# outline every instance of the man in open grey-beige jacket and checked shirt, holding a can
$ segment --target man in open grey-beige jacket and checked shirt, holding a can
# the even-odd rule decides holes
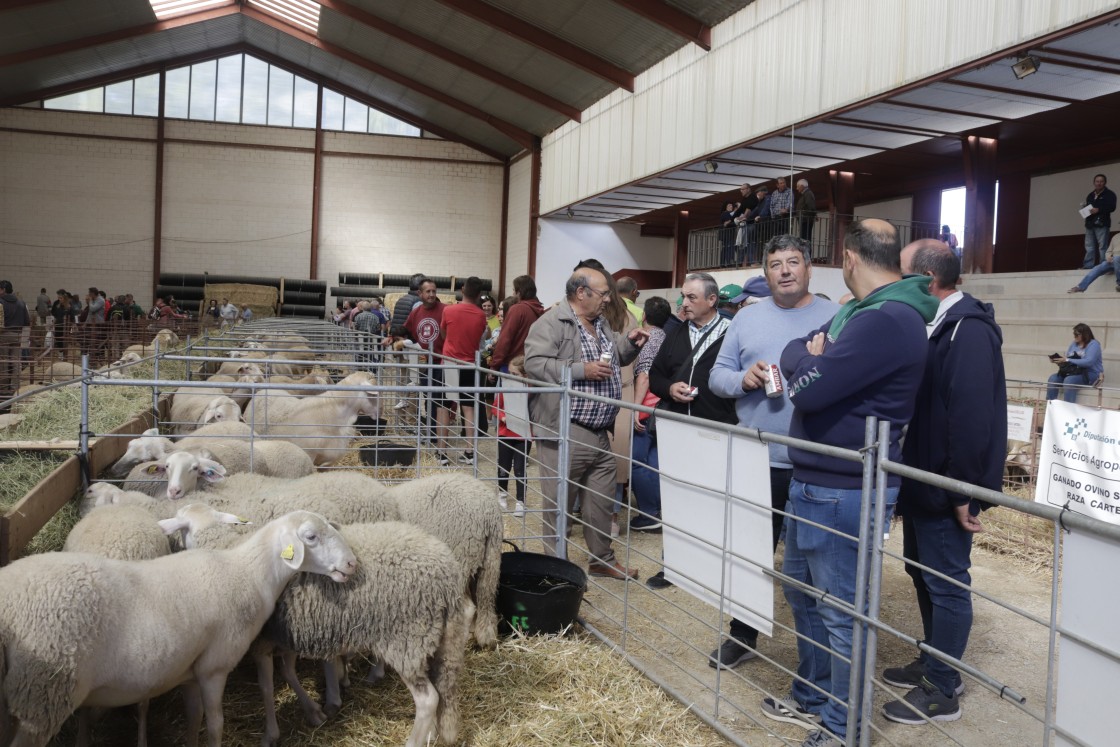
[[[573,392],[622,396],[620,368],[637,357],[650,335],[638,328],[628,336],[614,332],[603,317],[610,296],[606,273],[580,268],[564,286],[564,300],[545,311],[525,338],[525,373],[530,379],[559,384],[571,370]],[[544,544],[556,553],[556,510],[559,477],[560,394],[532,394],[529,410],[533,438],[540,442]],[[610,547],[610,513],[615,494],[615,456],[608,433],[618,407],[571,398],[569,415],[568,511],[579,493],[584,507],[584,541],[588,572],[604,578],[636,578],[637,571],[615,560]]]

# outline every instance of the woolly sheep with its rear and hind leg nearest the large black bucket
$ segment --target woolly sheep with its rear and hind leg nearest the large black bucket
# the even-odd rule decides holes
[[[469,475],[422,477],[388,491],[401,521],[410,522],[447,542],[466,571],[467,591],[478,618],[472,632],[484,647],[497,644],[497,582],[502,573],[502,511],[494,488]]]

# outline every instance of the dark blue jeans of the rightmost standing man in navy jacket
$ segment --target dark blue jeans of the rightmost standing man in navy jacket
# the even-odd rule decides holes
[[[972,534],[961,529],[955,516],[903,516],[903,557],[916,560],[965,586],[972,583]],[[906,566],[917,591],[925,643],[953,659],[964,656],[972,631],[972,594],[928,571]],[[925,678],[951,697],[961,683],[960,672],[922,654]]]

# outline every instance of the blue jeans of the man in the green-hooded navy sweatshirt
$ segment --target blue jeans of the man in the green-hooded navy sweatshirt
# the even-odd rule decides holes
[[[888,521],[897,499],[898,488],[889,488]],[[790,483],[787,511],[791,517],[785,527],[782,571],[795,580],[827,590],[830,596],[855,604],[860,491],[806,485],[794,479]],[[802,519],[848,536],[796,521]],[[791,689],[793,698],[802,708],[819,713],[821,723],[842,739],[848,734],[851,665],[846,660],[851,659],[852,618],[793,588],[785,587],[784,591],[799,634],[797,679]],[[831,697],[821,694],[802,679]]]

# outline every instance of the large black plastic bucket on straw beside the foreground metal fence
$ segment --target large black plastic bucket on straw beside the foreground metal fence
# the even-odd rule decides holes
[[[502,553],[497,586],[502,633],[559,633],[575,623],[587,591],[586,571],[562,558],[514,549]]]

